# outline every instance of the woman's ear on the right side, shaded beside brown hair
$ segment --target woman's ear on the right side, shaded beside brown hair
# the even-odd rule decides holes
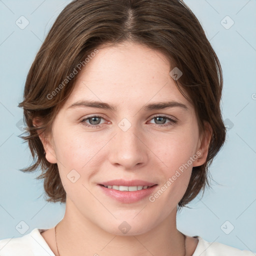
[[[200,135],[196,150],[196,152],[200,152],[200,154],[198,153],[198,158],[193,161],[193,166],[200,166],[205,163],[211,136],[212,128],[208,122],[204,121],[204,132]]]

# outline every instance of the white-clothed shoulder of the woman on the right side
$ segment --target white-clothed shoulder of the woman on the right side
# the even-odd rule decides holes
[[[195,248],[192,256],[255,256],[256,254],[249,250],[240,250],[232,246],[225,245],[219,242],[208,242],[200,236],[194,236],[198,238],[198,244]]]

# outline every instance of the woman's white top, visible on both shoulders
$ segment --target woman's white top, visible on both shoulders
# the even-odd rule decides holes
[[[55,256],[40,232],[47,229],[34,228],[30,233],[16,238],[0,240],[0,256]],[[248,250],[240,250],[219,242],[208,242],[200,236],[192,256],[255,256]]]

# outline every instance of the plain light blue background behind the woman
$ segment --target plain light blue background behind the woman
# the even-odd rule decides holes
[[[19,168],[31,163],[30,151],[17,137],[22,118],[26,74],[56,16],[66,0],[0,1],[0,239],[21,236],[15,226],[25,221],[33,228],[54,226],[64,214],[64,204],[47,203],[39,173]],[[212,189],[197,196],[177,215],[177,228],[240,249],[256,251],[256,1],[185,0],[200,20],[216,51],[224,78],[222,114],[230,126],[226,143],[210,167]],[[21,16],[29,24],[20,29]],[[226,16],[234,24],[225,29]],[[225,22],[225,19],[224,19]],[[226,25],[230,24],[226,21]],[[253,99],[254,95],[254,99]],[[228,119],[228,120],[227,120]],[[219,183],[219,184],[218,184]],[[221,225],[234,229],[225,234]]]

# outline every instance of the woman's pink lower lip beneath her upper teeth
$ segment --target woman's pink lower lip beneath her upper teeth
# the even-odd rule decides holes
[[[98,186],[101,187],[101,189],[106,195],[122,203],[133,203],[149,196],[157,185],[153,185],[149,188],[136,190],[136,191],[120,191],[112,188],[106,188],[102,185],[98,185]]]

